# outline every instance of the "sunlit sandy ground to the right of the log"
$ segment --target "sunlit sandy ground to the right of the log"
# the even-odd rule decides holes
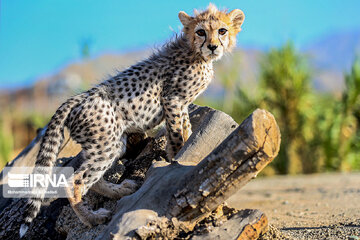
[[[360,239],[360,173],[258,178],[227,203],[262,210],[290,239]]]

